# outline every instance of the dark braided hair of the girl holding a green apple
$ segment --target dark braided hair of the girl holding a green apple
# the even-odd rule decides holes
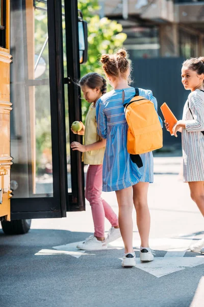
[[[82,77],[82,79],[79,81],[79,85],[83,86],[86,85],[90,89],[94,90],[96,87],[98,87],[101,91],[101,94],[104,95],[107,90],[107,84],[106,84],[106,79],[97,74],[97,73],[89,73]]]

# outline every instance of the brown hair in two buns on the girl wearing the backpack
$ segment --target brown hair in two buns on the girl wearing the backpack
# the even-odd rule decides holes
[[[126,77],[127,70],[131,70],[127,53],[125,49],[118,50],[115,54],[101,55],[100,62],[103,64],[103,69],[108,76],[111,77]],[[129,82],[131,79],[129,78]]]

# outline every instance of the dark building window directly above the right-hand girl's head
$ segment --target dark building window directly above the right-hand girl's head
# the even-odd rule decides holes
[[[180,36],[180,55],[185,58],[198,56],[198,48],[199,48],[198,35],[194,35],[180,29],[179,36]]]

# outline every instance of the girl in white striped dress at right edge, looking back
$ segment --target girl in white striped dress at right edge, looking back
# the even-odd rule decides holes
[[[191,93],[184,105],[183,119],[173,127],[174,136],[182,133],[184,182],[188,182],[191,198],[204,216],[204,57],[183,63],[182,83]],[[165,124],[168,130],[168,123]],[[204,252],[204,239],[190,247]]]

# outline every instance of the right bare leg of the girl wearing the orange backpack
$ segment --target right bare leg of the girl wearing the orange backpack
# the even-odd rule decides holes
[[[149,247],[150,214],[147,204],[148,187],[148,182],[139,182],[133,186],[133,201],[137,213],[137,227],[142,247]]]

